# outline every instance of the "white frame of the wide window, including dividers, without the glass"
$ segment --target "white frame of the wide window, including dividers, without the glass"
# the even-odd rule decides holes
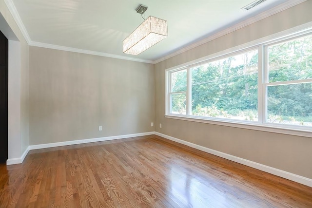
[[[286,82],[268,82],[268,69],[267,63],[268,60],[267,48],[270,45],[277,44],[279,42],[284,42],[292,38],[299,38],[300,36],[305,36],[312,34],[311,23],[304,24],[287,31],[283,31],[277,34],[273,34],[269,37],[261,38],[234,48],[230,48],[207,57],[196,59],[194,61],[172,67],[165,70],[165,117],[172,119],[180,119],[187,121],[194,121],[200,123],[209,123],[222,126],[237,127],[243,129],[252,129],[265,132],[277,132],[298,136],[312,137],[312,127],[309,126],[296,126],[296,125],[287,125],[287,124],[274,124],[268,123],[267,120],[267,86],[280,85],[280,84],[293,84],[293,83],[305,83],[311,82],[312,79],[308,80],[295,80],[295,81],[286,81]],[[246,120],[235,120],[228,118],[218,118],[218,117],[203,117],[191,115],[191,95],[192,95],[192,85],[191,85],[191,70],[190,68],[211,62],[214,60],[221,59],[222,57],[235,56],[237,54],[242,54],[252,50],[258,50],[258,121],[246,121]],[[173,114],[170,113],[171,109],[171,73],[187,70],[187,91],[186,91],[186,115]]]

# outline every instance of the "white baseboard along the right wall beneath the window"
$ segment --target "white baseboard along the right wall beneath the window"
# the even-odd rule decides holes
[[[236,157],[234,155],[227,154],[227,153],[224,153],[224,152],[221,152],[221,151],[212,150],[212,149],[200,146],[200,145],[196,145],[196,144],[191,143],[191,142],[187,142],[187,141],[184,141],[184,140],[181,140],[181,139],[177,139],[177,138],[172,137],[172,136],[168,136],[168,135],[163,134],[163,133],[155,132],[155,134],[158,135],[158,136],[164,137],[166,139],[175,141],[177,143],[184,144],[186,146],[195,148],[197,150],[205,151],[205,152],[208,152],[210,154],[214,154],[216,156],[223,157],[225,159],[232,160],[234,162],[237,162],[237,163],[240,163],[240,164],[243,164],[243,165],[246,165],[246,166],[258,169],[258,170],[262,170],[262,171],[271,173],[273,175],[277,175],[277,176],[280,176],[282,178],[286,178],[286,179],[289,179],[291,181],[294,181],[294,182],[297,182],[297,183],[300,183],[300,184],[312,187],[312,179],[310,179],[310,178],[306,178],[306,177],[303,177],[303,176],[300,176],[300,175],[296,175],[296,174],[293,174],[291,172],[287,172],[287,171],[284,171],[284,170],[279,170],[279,169],[276,169],[276,168],[272,168],[270,166],[262,165],[260,163],[256,163],[256,162],[253,162],[253,161],[250,161],[250,160],[246,160],[246,159],[243,159],[243,158],[240,158],[240,157]]]

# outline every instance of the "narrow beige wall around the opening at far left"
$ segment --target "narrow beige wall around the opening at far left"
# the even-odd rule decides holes
[[[0,14],[0,28],[10,40],[8,157],[15,159],[29,145],[29,46],[3,0]]]

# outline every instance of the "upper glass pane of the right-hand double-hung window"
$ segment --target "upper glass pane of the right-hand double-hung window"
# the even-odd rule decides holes
[[[268,47],[269,82],[312,78],[312,35]]]

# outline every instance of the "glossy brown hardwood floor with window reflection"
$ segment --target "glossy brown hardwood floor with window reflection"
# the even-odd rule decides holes
[[[312,188],[150,135],[0,165],[6,207],[312,208]]]

